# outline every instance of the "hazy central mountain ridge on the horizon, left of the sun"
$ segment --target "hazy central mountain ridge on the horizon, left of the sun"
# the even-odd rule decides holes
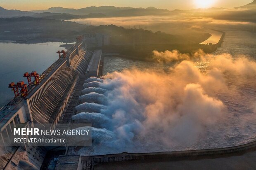
[[[143,15],[164,15],[164,14],[171,13],[167,9],[157,9],[155,7],[133,8],[133,7],[114,7],[114,6],[86,7],[81,9],[51,7],[47,10],[35,10],[32,12],[68,13],[73,15],[88,15],[88,14],[101,13],[106,16],[143,16]]]

